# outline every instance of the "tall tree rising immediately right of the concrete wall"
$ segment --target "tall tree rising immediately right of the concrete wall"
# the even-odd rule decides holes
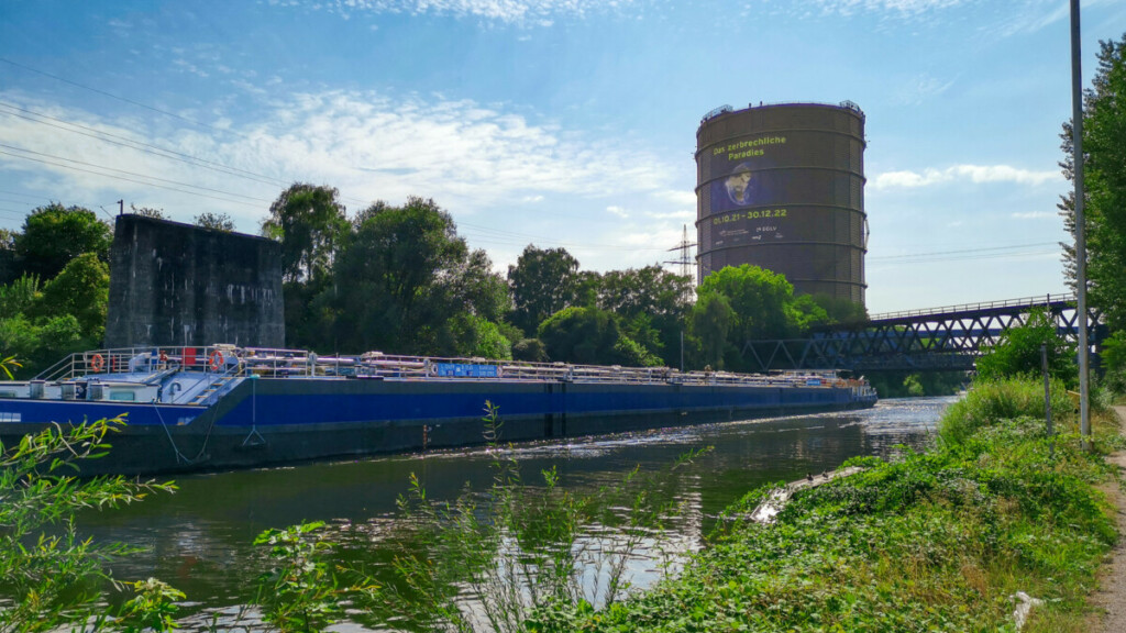
[[[286,282],[312,282],[330,273],[337,243],[348,230],[346,209],[337,196],[333,187],[295,182],[270,205],[262,234],[282,242]]]

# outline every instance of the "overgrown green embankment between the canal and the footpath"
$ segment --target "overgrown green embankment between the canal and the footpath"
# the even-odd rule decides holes
[[[867,470],[797,493],[774,525],[747,520],[769,493],[753,491],[679,577],[602,612],[540,612],[528,627],[1013,631],[1011,596],[1025,591],[1045,600],[1026,631],[1083,631],[1117,538],[1094,484],[1114,474],[1080,451],[1062,400],[1049,455],[1043,418],[1029,417],[1034,384],[975,387],[932,449],[854,460]],[[1120,443],[1117,427],[1097,430],[1096,446]]]

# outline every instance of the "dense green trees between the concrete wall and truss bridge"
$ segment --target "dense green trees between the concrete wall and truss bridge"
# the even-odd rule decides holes
[[[334,188],[295,184],[262,233],[282,244],[287,344],[321,353],[743,369],[748,337],[864,318],[751,266],[709,276],[696,301],[658,265],[600,274],[562,248],[529,244],[502,275],[421,197],[349,217]]]

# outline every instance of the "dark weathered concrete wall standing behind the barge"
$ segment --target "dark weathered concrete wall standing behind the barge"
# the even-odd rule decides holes
[[[106,347],[285,347],[280,244],[118,215]]]

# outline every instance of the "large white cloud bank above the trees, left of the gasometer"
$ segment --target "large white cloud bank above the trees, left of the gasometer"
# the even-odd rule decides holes
[[[163,132],[137,121],[108,122],[80,110],[33,104],[15,93],[0,93],[0,100],[258,175],[239,178],[227,169],[185,164],[60,127],[5,117],[0,143],[87,164],[0,154],[0,170],[18,170],[25,182],[38,178],[45,195],[75,204],[116,191],[114,196],[126,200],[136,196],[138,205],[170,212],[193,209],[195,214],[206,207],[257,221],[286,185],[300,180],[339,188],[354,211],[375,199],[399,203],[410,195],[434,197],[458,214],[560,195],[604,198],[598,206],[605,208],[616,204],[614,196],[635,199],[669,191],[677,172],[644,150],[626,152],[600,137],[588,139],[495,106],[437,97],[298,93],[274,102],[250,126],[221,115],[209,118],[229,127],[226,133],[215,127]]]

